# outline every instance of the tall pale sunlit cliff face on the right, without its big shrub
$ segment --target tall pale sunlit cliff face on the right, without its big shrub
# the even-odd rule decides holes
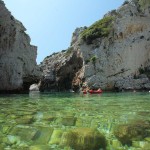
[[[79,73],[89,87],[112,89],[149,89],[150,75],[150,3],[130,1],[106,14],[112,17],[111,30],[99,37],[76,38],[73,46],[79,50],[84,65]],[[107,25],[108,26],[108,25]],[[106,31],[107,26],[101,28]],[[93,27],[94,28],[94,27]],[[104,29],[105,28],[105,29]],[[89,37],[91,28],[86,38]],[[85,29],[87,31],[87,29]],[[74,34],[75,35],[75,34]],[[105,35],[105,36],[104,36]],[[82,74],[82,75],[81,75]],[[139,74],[146,74],[140,77]]]

